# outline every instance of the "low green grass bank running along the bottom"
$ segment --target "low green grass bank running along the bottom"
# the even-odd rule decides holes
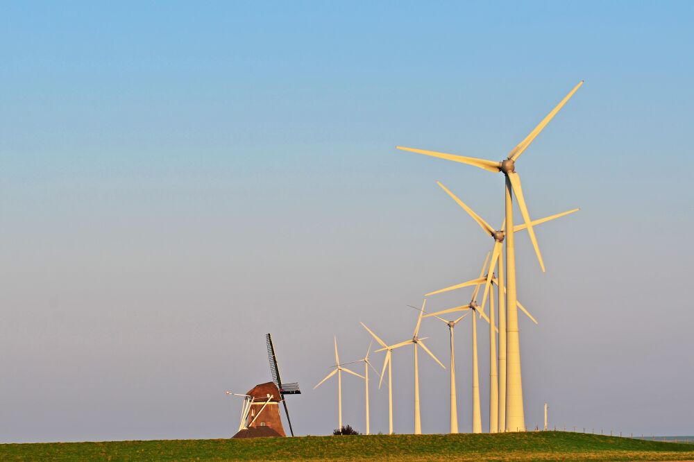
[[[2,461],[682,461],[694,445],[564,431],[0,445]]]

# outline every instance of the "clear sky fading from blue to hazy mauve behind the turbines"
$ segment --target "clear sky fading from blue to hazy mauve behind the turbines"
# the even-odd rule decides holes
[[[0,15],[0,442],[228,438],[276,344],[296,434],[337,427],[366,323],[412,336],[475,277],[502,176],[397,151],[518,160],[527,427],[691,435],[690,2],[5,3]],[[430,311],[466,303],[462,289]],[[489,425],[489,329],[480,330]],[[422,336],[448,363],[448,332]],[[382,353],[372,355],[376,368]],[[471,431],[471,319],[456,331]],[[393,353],[396,433],[412,350]],[[354,366],[358,372],[360,367]],[[448,370],[420,357],[422,426]],[[371,378],[371,431],[387,388]],[[364,384],[344,422],[364,431]]]

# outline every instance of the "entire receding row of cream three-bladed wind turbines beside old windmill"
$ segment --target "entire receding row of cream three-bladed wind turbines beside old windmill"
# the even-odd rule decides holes
[[[521,309],[523,313],[528,316],[535,324],[537,321],[530,314],[530,312],[521,305],[518,301],[517,288],[516,288],[516,253],[514,246],[514,234],[516,232],[527,231],[530,241],[535,250],[538,262],[542,271],[545,271],[545,265],[540,253],[540,249],[535,237],[534,227],[546,223],[548,221],[557,219],[561,216],[566,216],[577,212],[578,209],[570,209],[566,212],[561,212],[559,214],[547,216],[543,219],[532,220],[530,218],[530,213],[527,210],[527,205],[525,204],[525,198],[523,196],[523,189],[521,187],[521,178],[516,173],[516,161],[518,157],[521,157],[523,152],[528,146],[533,142],[533,140],[539,135],[539,133],[547,126],[547,124],[552,120],[553,117],[561,110],[566,102],[573,96],[573,94],[581,87],[583,80],[579,82],[565,97],[562,99],[557,106],[527,135],[523,141],[518,144],[515,148],[511,150],[507,157],[500,161],[484,160],[475,157],[464,157],[461,155],[453,155],[448,153],[439,153],[436,151],[426,151],[423,149],[416,148],[406,148],[403,146],[397,146],[398,149],[403,151],[411,151],[414,153],[419,153],[423,155],[428,155],[432,157],[439,157],[444,160],[450,160],[452,162],[459,162],[462,164],[468,164],[472,166],[477,166],[480,169],[490,171],[492,173],[503,173],[505,176],[505,187],[504,187],[504,207],[505,207],[505,219],[500,226],[500,228],[495,229],[489,223],[484,221],[480,215],[475,213],[471,207],[466,205],[458,196],[453,194],[448,188],[437,182],[439,187],[446,191],[446,194],[450,196],[455,202],[462,207],[468,215],[470,215],[475,222],[480,225],[482,231],[489,235],[493,239],[493,248],[491,250],[491,259],[489,259],[490,253],[487,253],[484,264],[482,265],[482,271],[478,277],[466,282],[459,284],[454,284],[452,286],[447,286],[444,289],[439,289],[437,291],[432,291],[426,293],[425,297],[434,296],[439,293],[444,293],[448,291],[453,291],[456,289],[462,289],[468,286],[474,286],[473,294],[471,300],[466,305],[460,305],[457,307],[452,307],[449,309],[444,309],[434,313],[428,313],[425,311],[426,299],[423,302],[421,309],[418,309],[419,314],[417,318],[416,327],[414,329],[414,334],[412,339],[403,341],[400,343],[395,343],[393,345],[387,345],[379,336],[377,336],[373,330],[366,327],[364,323],[361,323],[364,329],[366,329],[373,339],[378,342],[382,347],[380,350],[375,350],[376,352],[386,352],[383,362],[382,371],[380,374],[379,388],[383,382],[386,368],[388,369],[388,400],[389,400],[389,433],[393,434],[393,382],[392,382],[392,352],[397,348],[402,348],[406,345],[414,345],[414,433],[421,434],[421,417],[420,417],[420,402],[419,402],[419,375],[418,375],[418,348],[422,348],[434,361],[439,363],[442,368],[443,363],[427,348],[423,343],[425,338],[419,338],[419,329],[421,327],[421,322],[423,318],[435,318],[448,325],[448,331],[450,335],[450,433],[458,432],[457,423],[457,400],[456,400],[456,385],[455,385],[455,348],[454,348],[454,329],[456,325],[464,319],[471,312],[472,320],[472,357],[473,357],[473,409],[472,409],[472,420],[473,420],[473,433],[482,432],[482,418],[481,418],[481,405],[480,405],[480,379],[479,370],[477,363],[477,317],[484,318],[487,323],[489,323],[489,432],[496,433],[498,431],[525,431],[525,416],[523,409],[523,385],[521,380],[521,350],[520,350],[520,338],[518,334],[518,309]],[[514,197],[518,202],[518,207],[521,209],[521,216],[523,216],[523,223],[520,225],[514,225]],[[505,252],[503,251],[503,243],[506,243]],[[505,256],[505,258],[504,258]],[[482,295],[481,305],[477,303],[477,297],[479,296],[481,287],[484,286],[484,293]],[[494,287],[498,291],[498,327],[496,326],[496,307],[494,306]],[[484,311],[486,305],[486,300],[489,298],[489,316]],[[466,311],[465,314],[455,318],[453,320],[446,320],[441,316],[451,313],[460,313]],[[477,314],[478,316],[475,316]],[[496,334],[499,334],[498,339],[498,355],[497,355],[497,341]],[[344,367],[349,363],[340,363],[339,356],[337,353],[337,339],[335,339],[335,370],[332,370],[327,377],[325,377],[319,384],[316,385],[317,388],[323,382],[328,380],[333,375],[338,376],[338,415],[339,415],[339,428],[342,427],[342,404],[341,404],[341,373],[344,371],[351,375],[361,377],[364,379],[366,384],[366,434],[369,434],[369,367],[373,368],[371,362],[369,361],[369,354],[371,352],[371,345],[369,345],[369,350],[367,351],[366,357],[353,362],[363,362],[364,363],[364,375],[355,373],[353,370],[349,370]],[[498,373],[497,373],[498,368]],[[375,370],[375,369],[374,369]],[[378,371],[376,371],[378,373]]]

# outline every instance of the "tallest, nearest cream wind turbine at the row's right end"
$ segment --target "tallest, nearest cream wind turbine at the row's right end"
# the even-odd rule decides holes
[[[513,195],[516,195],[518,207],[521,209],[523,220],[527,224],[527,232],[535,249],[537,259],[540,263],[542,271],[545,271],[545,264],[542,261],[540,248],[537,245],[535,232],[532,229],[532,220],[525,205],[525,197],[521,187],[521,178],[516,173],[516,161],[518,157],[527,149],[539,133],[547,126],[548,123],[555,117],[557,112],[564,107],[566,102],[573,94],[583,85],[581,80],[578,85],[573,87],[571,91],[564,96],[557,106],[530,132],[522,142],[511,150],[509,155],[500,162],[493,160],[478,159],[476,157],[465,157],[462,155],[453,155],[447,153],[439,153],[436,151],[425,151],[423,149],[405,148],[396,146],[403,151],[412,151],[414,153],[439,157],[441,159],[452,160],[462,164],[473,165],[491,171],[493,173],[503,173],[505,176],[504,202],[506,213],[506,225],[509,229],[514,229],[514,211],[513,211]],[[509,431],[524,431],[525,416],[523,413],[523,384],[521,382],[521,348],[520,339],[518,337],[518,311],[516,310],[516,251],[514,247],[514,233],[509,232],[506,237],[506,271],[507,271],[507,402],[506,402],[506,429]]]

